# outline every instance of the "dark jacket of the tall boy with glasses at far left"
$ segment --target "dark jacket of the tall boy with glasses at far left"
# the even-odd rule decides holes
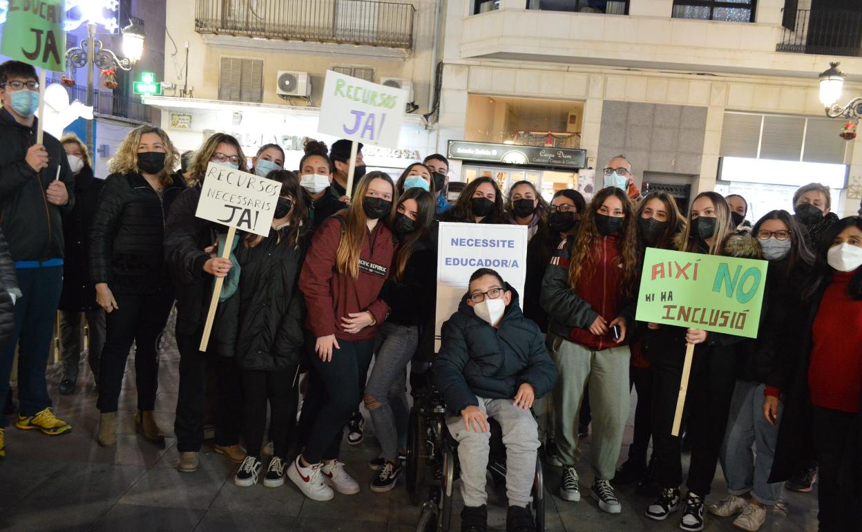
[[[75,206],[75,178],[66,150],[57,139],[44,134],[47,168],[35,172],[25,160],[28,148],[36,143],[37,120],[28,128],[16,122],[9,111],[0,110],[0,228],[16,262],[62,259],[60,213]],[[46,196],[48,185],[57,178],[58,165],[59,180],[69,193],[69,203],[62,207],[48,203]]]

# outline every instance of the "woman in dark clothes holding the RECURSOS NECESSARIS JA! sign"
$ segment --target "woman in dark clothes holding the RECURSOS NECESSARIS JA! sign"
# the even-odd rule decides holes
[[[213,254],[224,226],[195,216],[209,164],[244,172],[245,161],[242,147],[233,136],[211,135],[195,153],[186,175],[190,188],[177,198],[165,227],[165,256],[177,289],[177,469],[185,473],[197,471],[197,453],[203,444],[208,366],[215,368],[215,452],[237,464],[246,458],[246,451],[240,447],[242,385],[234,361],[234,343],[220,338],[222,328],[214,327],[207,351],[200,350],[213,283],[216,278],[226,278],[233,263]],[[218,317],[216,314],[216,320]]]

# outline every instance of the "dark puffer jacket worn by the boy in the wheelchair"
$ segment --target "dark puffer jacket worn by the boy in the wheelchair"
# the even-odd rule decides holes
[[[524,317],[518,294],[497,329],[476,316],[464,295],[458,311],[443,323],[440,353],[434,360],[434,385],[449,410],[460,414],[484,399],[513,399],[523,383],[539,398],[553,389],[557,368],[545,348],[539,326]]]

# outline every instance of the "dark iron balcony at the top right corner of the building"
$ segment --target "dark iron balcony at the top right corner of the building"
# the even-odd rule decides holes
[[[784,14],[778,52],[862,57],[862,13],[843,9],[797,9]]]

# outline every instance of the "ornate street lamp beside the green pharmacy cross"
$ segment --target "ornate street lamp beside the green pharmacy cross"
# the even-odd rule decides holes
[[[92,5],[96,5],[93,3]],[[88,13],[85,11],[85,14]],[[92,11],[87,19],[87,40],[81,41],[78,47],[66,50],[66,63],[75,68],[87,67],[87,101],[89,107],[93,106],[93,66],[99,70],[106,68],[120,68],[124,71],[132,70],[132,66],[144,51],[144,22],[140,19],[130,18],[129,25],[122,28],[122,51],[125,58],[117,57],[116,53],[108,48],[102,47],[102,41],[96,38],[97,20],[96,11]],[[93,145],[93,122],[87,121],[86,138],[84,139],[91,153],[95,152]]]

